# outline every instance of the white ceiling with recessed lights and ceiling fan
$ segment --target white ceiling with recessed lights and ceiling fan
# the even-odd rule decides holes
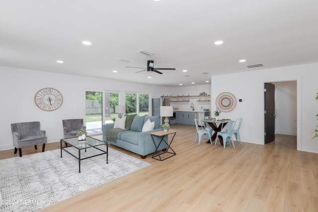
[[[211,75],[318,62],[317,9],[318,0],[0,0],[0,66],[205,84]],[[148,60],[176,70],[125,68]],[[265,67],[246,68],[260,63]]]

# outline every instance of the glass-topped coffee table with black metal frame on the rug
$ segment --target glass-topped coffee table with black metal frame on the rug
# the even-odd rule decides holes
[[[62,146],[62,142],[65,142],[66,146],[63,147]],[[100,145],[104,145],[104,144],[106,144],[106,151],[96,147],[96,146],[100,146]],[[71,146],[73,146],[73,147],[75,147],[76,149],[79,150],[79,155],[78,156],[76,156],[75,154],[73,154],[73,153],[71,153],[70,151],[67,150],[67,148],[69,148]],[[92,155],[92,156],[89,156],[89,157],[81,158],[80,157],[80,151],[85,149],[85,152],[86,152],[86,149],[87,148],[91,148],[91,147],[100,150],[102,153],[95,154],[95,155]],[[73,157],[75,157],[75,158],[77,158],[79,160],[79,173],[80,173],[80,161],[81,160],[84,160],[84,159],[87,159],[87,158],[91,158],[91,157],[95,157],[95,156],[102,155],[102,154],[106,154],[106,163],[108,163],[108,142],[100,141],[100,140],[94,139],[92,137],[88,137],[87,136],[85,141],[79,141],[78,137],[70,138],[70,139],[61,139],[61,157],[62,157],[62,150],[68,152]]]

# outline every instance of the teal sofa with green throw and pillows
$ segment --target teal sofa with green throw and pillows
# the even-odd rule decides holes
[[[150,119],[151,122],[155,122],[154,130],[142,132],[145,122]],[[103,131],[103,141],[107,139],[107,130],[114,127],[114,124],[105,124],[102,127]],[[128,151],[139,154],[142,159],[145,159],[148,154],[154,153],[156,151],[156,145],[161,141],[160,137],[154,136],[154,141],[152,139],[151,133],[156,131],[161,131],[162,126],[160,125],[160,116],[138,116],[136,115],[132,121],[129,130],[121,131],[117,134],[116,141],[107,141],[109,144],[121,147]],[[165,141],[167,136],[164,137]],[[165,150],[167,144],[162,141],[159,145],[158,150]]]

